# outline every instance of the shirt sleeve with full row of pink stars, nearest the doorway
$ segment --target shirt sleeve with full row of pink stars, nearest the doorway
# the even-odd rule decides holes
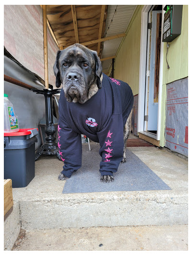
[[[105,128],[97,133],[102,157],[100,173],[113,175],[123,158],[123,120],[122,114],[113,114]]]

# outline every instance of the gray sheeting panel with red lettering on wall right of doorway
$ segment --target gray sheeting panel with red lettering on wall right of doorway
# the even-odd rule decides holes
[[[165,146],[188,157],[188,77],[167,85]]]

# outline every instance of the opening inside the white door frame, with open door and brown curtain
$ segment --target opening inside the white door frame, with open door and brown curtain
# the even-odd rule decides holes
[[[147,61],[145,83],[144,131],[156,134],[158,116],[158,80],[161,46],[161,13],[148,13]]]

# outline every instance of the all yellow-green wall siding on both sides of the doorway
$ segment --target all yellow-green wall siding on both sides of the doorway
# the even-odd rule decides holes
[[[139,64],[141,40],[141,16],[144,5],[138,5],[115,59],[115,78],[127,82],[133,95],[139,93]],[[160,146],[165,142],[166,88],[167,84],[188,76],[188,5],[183,5],[181,35],[169,43],[167,69],[167,43],[163,52],[163,87],[161,105]]]

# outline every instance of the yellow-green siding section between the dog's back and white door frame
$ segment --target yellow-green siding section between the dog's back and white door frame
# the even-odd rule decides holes
[[[115,59],[115,78],[128,83],[133,95],[139,93],[139,63],[141,41],[141,14],[143,5],[138,5],[130,24],[127,35],[118,49]]]

